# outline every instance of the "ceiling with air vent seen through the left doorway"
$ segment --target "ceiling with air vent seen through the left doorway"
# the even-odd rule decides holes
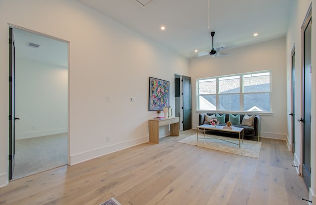
[[[68,43],[40,34],[13,28],[15,57],[41,63],[68,67]],[[38,48],[27,43],[39,44]]]

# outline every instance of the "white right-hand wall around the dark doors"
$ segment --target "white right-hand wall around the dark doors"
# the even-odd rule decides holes
[[[302,116],[302,25],[304,19],[308,13],[310,5],[314,4],[314,9],[312,9],[312,19],[316,17],[316,0],[299,0],[294,1],[293,10],[291,13],[290,26],[286,35],[286,71],[287,76],[291,75],[291,50],[295,45],[295,112],[296,119]],[[315,65],[316,65],[316,28],[312,26],[312,79],[316,79]],[[291,93],[290,93],[290,80],[287,81],[287,110],[290,111],[291,108]],[[316,201],[315,196],[315,186],[316,186],[316,81],[312,80],[312,120],[311,120],[311,188],[310,188],[310,200]],[[287,122],[290,124],[291,118],[288,117]],[[301,173],[302,165],[302,123],[295,123],[295,153],[294,153],[294,164],[299,166],[300,169],[297,170]],[[288,133],[291,133],[291,128],[289,127]],[[291,135],[289,135],[290,137]],[[290,138],[288,139],[291,141]]]

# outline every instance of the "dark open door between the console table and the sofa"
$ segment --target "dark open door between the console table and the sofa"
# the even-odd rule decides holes
[[[191,77],[182,77],[183,86],[183,130],[192,128]]]

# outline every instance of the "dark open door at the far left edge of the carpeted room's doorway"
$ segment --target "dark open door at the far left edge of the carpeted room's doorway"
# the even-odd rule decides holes
[[[12,179],[15,165],[15,43],[13,29],[9,28],[9,180]]]

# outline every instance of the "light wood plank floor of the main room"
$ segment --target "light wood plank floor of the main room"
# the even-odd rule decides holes
[[[262,138],[253,159],[177,142],[195,133],[11,181],[0,205],[307,205],[285,141]]]

